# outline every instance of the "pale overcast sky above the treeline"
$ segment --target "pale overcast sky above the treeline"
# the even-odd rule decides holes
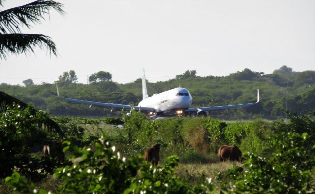
[[[315,70],[315,0],[56,0],[65,16],[23,33],[48,35],[58,57],[36,49],[0,61],[0,83],[53,83],[74,70],[79,83],[108,71],[113,81],[157,82],[186,70],[226,76],[286,65]],[[3,9],[32,0],[6,0]]]

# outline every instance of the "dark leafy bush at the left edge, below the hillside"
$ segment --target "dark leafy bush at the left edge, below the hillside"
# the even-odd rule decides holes
[[[28,161],[35,162],[29,155],[35,143],[40,143],[47,134],[41,129],[40,123],[47,119],[47,114],[34,109],[12,108],[0,113],[0,177],[5,177],[17,169],[34,171]],[[38,161],[37,161],[38,162]]]

